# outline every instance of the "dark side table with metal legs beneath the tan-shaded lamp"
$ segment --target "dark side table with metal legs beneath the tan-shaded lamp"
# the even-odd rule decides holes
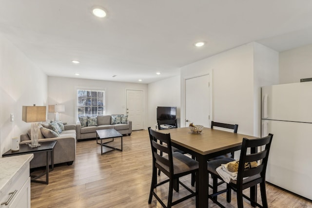
[[[40,147],[35,147],[31,148],[28,146],[28,144],[20,144],[20,150],[18,151],[12,151],[9,150],[2,154],[2,157],[9,157],[9,156],[14,156],[14,155],[20,155],[20,154],[30,154],[30,153],[35,153],[35,152],[40,152],[40,151],[45,151],[46,152],[46,168],[45,172],[42,172],[39,175],[30,175],[31,176],[31,182],[36,182],[36,183],[42,183],[42,184],[49,184],[49,152],[51,152],[51,170],[54,169],[54,147],[57,141],[45,141],[45,142],[40,142],[41,146]],[[35,157],[35,154],[34,154]],[[46,180],[45,181],[40,181],[37,180],[40,178],[42,175],[46,175]]]

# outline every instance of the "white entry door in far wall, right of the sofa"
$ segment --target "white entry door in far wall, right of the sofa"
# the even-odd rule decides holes
[[[143,91],[127,90],[127,115],[132,121],[132,130],[143,129]]]

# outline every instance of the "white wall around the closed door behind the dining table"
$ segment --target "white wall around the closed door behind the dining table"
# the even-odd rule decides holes
[[[181,89],[186,77],[202,75],[208,70],[213,71],[212,120],[238,124],[238,132],[253,134],[253,44],[182,67]],[[185,113],[183,103],[184,91],[181,92],[181,119]]]

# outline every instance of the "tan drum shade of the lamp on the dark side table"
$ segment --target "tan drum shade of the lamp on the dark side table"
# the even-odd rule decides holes
[[[27,123],[45,121],[46,110],[46,106],[23,106],[22,120]]]

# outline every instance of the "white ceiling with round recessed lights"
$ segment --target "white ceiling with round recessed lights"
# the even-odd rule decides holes
[[[312,1],[0,0],[0,33],[49,76],[151,83],[251,41],[311,44]]]

